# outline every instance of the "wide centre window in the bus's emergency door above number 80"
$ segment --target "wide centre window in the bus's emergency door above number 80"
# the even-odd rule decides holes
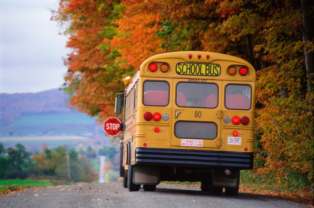
[[[180,107],[216,108],[218,86],[213,83],[179,82],[176,86],[176,104]]]

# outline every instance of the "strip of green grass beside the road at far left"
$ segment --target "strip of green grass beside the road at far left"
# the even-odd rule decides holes
[[[47,187],[52,186],[53,183],[46,181],[34,180],[0,180],[0,195],[8,194],[12,191],[19,191],[23,188],[30,187]]]

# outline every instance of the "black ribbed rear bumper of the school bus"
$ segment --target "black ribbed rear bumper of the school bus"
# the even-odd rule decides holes
[[[135,164],[253,169],[253,153],[136,148]]]

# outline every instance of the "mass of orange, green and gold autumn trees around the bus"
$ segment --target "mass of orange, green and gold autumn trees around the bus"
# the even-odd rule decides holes
[[[313,187],[313,2],[309,0],[60,0],[70,105],[103,121],[148,57],[211,51],[246,59],[256,90],[254,174]],[[302,147],[302,148],[300,148]]]

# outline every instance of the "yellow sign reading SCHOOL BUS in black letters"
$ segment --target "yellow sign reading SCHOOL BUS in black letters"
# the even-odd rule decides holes
[[[176,64],[176,73],[179,75],[195,76],[219,76],[221,67],[219,64],[187,63]]]

